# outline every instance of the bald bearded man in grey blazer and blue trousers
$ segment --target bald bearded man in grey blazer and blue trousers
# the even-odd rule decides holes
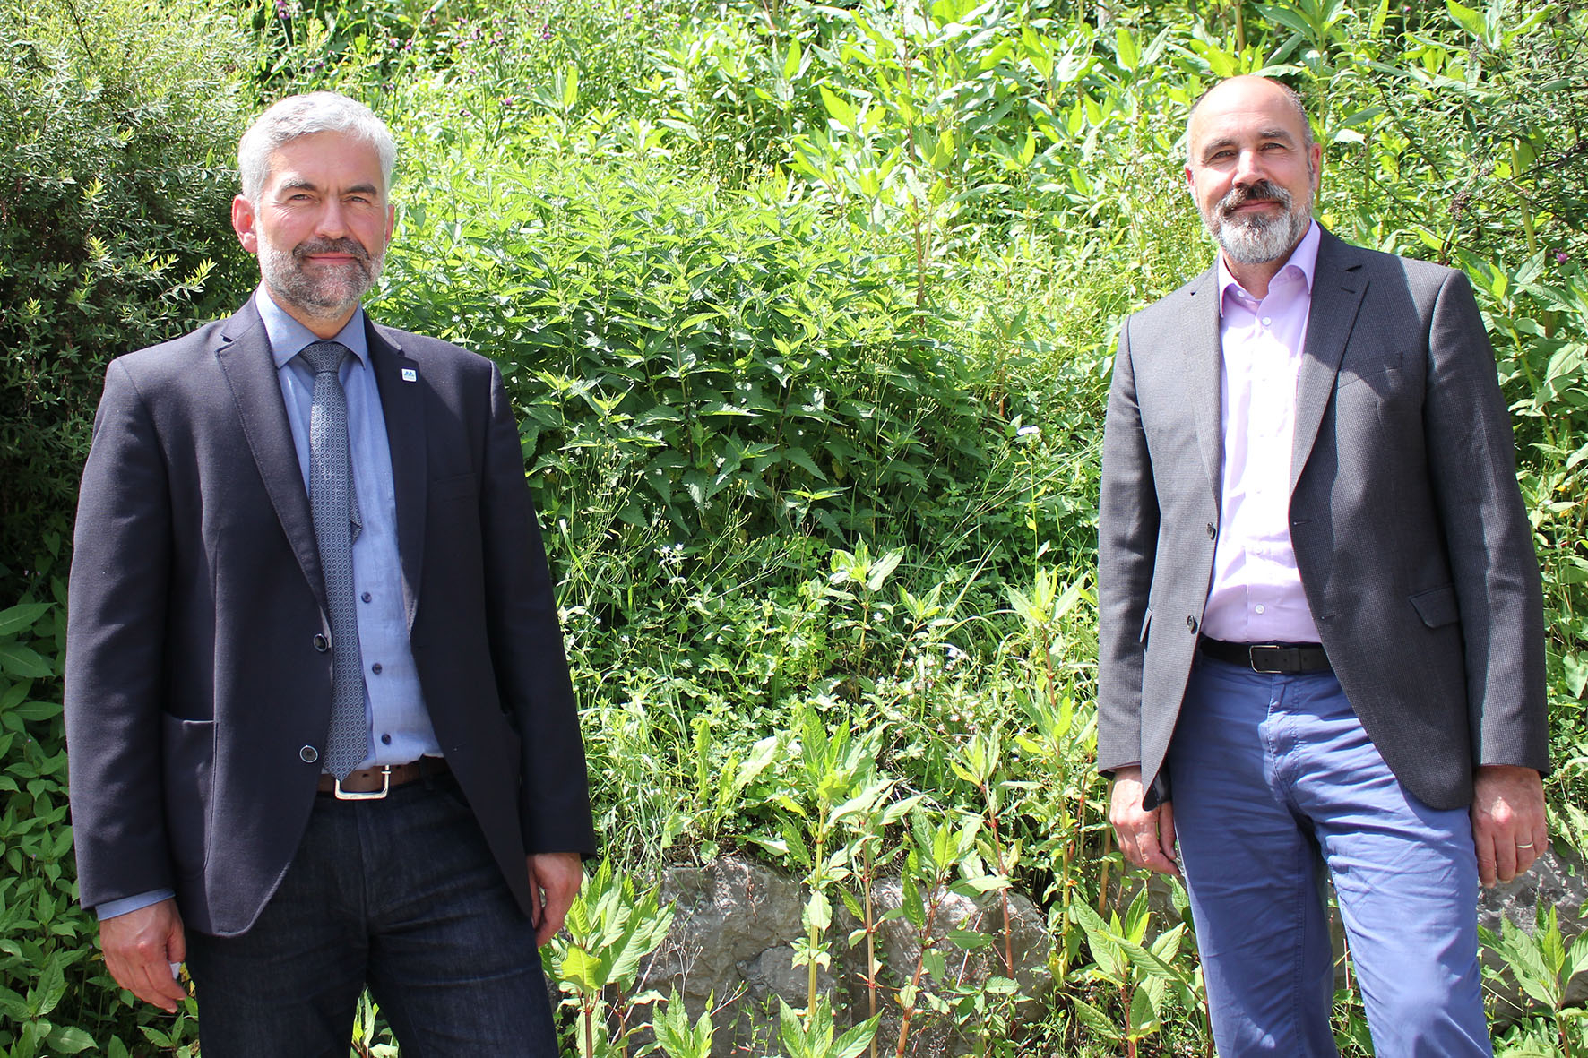
[[[1318,227],[1320,164],[1274,81],[1193,110],[1220,253],[1120,335],[1097,766],[1185,871],[1224,1058],[1337,1053],[1320,864],[1377,1053],[1488,1055],[1477,886],[1547,840],[1515,442],[1466,276]]]

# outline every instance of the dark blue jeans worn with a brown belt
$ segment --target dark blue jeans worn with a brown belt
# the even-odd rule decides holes
[[[403,1058],[557,1053],[535,929],[448,775],[319,794],[259,921],[189,933],[187,967],[205,1058],[346,1058],[365,985]]]

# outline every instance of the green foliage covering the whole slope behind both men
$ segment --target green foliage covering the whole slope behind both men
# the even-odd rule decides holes
[[[907,1015],[888,1050],[927,1020],[989,1055],[1207,1044],[1188,923],[1115,901],[1139,877],[1091,770],[1093,548],[1113,335],[1210,257],[1181,129],[1232,73],[1307,98],[1328,226],[1474,278],[1545,573],[1551,799],[1580,817],[1580,5],[283,0],[238,30],[0,3],[0,599],[30,600],[0,615],[14,1053],[73,1029],[191,1048],[189,1015],[118,1002],[70,905],[51,573],[105,359],[241,300],[235,137],[306,87],[402,140],[373,311],[495,357],[522,421],[615,861],[554,953],[581,1053],[624,1052],[646,1009],[662,1052],[710,1052],[710,1015],[630,994],[669,912],[616,878],[734,848],[799,872],[810,980],[865,945],[850,1009],[784,1009],[788,1053],[877,1050],[883,1012]],[[1054,939],[1039,1025],[1016,1025],[1029,982],[953,972],[1002,958],[1010,885]],[[937,921],[953,891],[986,923]],[[886,923],[918,964],[878,956]],[[1490,944],[1559,979],[1532,937]],[[1577,1039],[1540,1006],[1513,1053]]]

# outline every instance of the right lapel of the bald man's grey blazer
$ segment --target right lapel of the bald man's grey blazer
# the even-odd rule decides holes
[[[1307,315],[1307,340],[1302,345],[1301,378],[1296,383],[1296,442],[1291,448],[1289,489],[1296,491],[1302,467],[1312,454],[1323,423],[1323,410],[1334,394],[1334,376],[1345,356],[1345,343],[1356,326],[1356,313],[1367,292],[1367,276],[1361,272],[1351,246],[1329,232],[1318,243],[1318,267],[1312,280],[1312,310]]]

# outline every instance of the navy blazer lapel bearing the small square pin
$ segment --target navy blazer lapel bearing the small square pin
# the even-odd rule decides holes
[[[403,604],[408,631],[419,605],[419,572],[424,556],[424,513],[429,488],[429,459],[424,434],[424,378],[419,362],[408,357],[397,338],[364,316],[370,343],[375,386],[381,394],[386,442],[392,458],[392,489],[397,494],[397,556],[402,562]]]

